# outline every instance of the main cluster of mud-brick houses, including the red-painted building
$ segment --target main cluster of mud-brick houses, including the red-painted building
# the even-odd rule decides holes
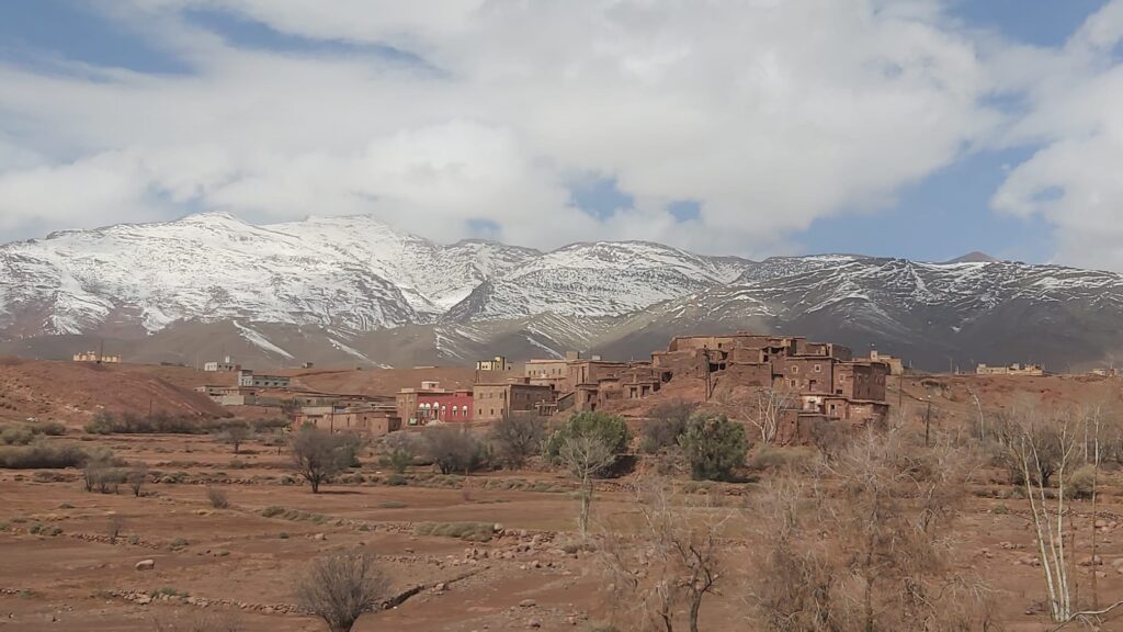
[[[477,370],[509,367],[501,358],[486,362],[477,363]],[[853,358],[848,347],[797,336],[681,336],[648,362],[568,353],[560,359],[530,360],[521,377],[481,378],[472,388],[445,389],[437,382],[422,382],[420,388],[398,392],[396,413],[405,425],[426,425],[612,409],[623,400],[646,399],[673,380],[693,380],[705,399],[719,386],[783,392],[788,432],[797,433],[813,419],[850,424],[883,419],[888,413],[886,377],[902,370],[897,358],[876,351],[868,358]]]

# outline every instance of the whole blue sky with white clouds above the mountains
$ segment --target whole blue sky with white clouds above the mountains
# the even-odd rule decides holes
[[[7,0],[0,242],[371,214],[1123,271],[1121,103],[1123,0]]]

